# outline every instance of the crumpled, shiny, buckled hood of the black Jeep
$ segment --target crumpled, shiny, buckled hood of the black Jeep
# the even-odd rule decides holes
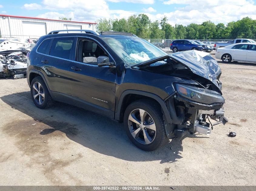
[[[169,56],[187,66],[194,74],[210,80],[221,90],[218,85],[221,68],[209,53],[188,50],[169,54]]]

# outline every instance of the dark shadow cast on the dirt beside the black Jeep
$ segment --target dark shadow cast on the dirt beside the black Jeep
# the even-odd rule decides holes
[[[11,124],[12,130],[5,126],[5,130],[11,136],[27,135],[33,123],[41,124],[36,129],[34,136],[48,136],[52,139],[57,132],[63,132],[66,136],[80,145],[90,148],[98,153],[120,158],[126,161],[161,161],[160,163],[175,162],[182,158],[182,141],[171,140],[163,148],[156,151],[146,152],[135,147],[128,139],[122,123],[117,123],[105,116],[73,107],[65,103],[56,102],[49,109],[35,107],[31,100],[30,92],[20,92],[1,97],[2,101],[13,109],[31,116],[34,120],[24,122],[15,121]],[[17,123],[17,124],[15,124]],[[23,124],[23,125],[21,125]],[[24,125],[25,124],[25,125]],[[23,134],[21,133],[23,131]],[[13,134],[12,134],[13,133]],[[51,136],[49,136],[51,135]],[[188,135],[186,138],[194,138]],[[204,137],[198,137],[204,138]],[[25,139],[24,139],[25,140]]]

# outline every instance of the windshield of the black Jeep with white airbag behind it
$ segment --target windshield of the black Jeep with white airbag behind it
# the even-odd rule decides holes
[[[167,55],[166,52],[138,37],[105,37],[102,38],[121,59],[128,65]]]

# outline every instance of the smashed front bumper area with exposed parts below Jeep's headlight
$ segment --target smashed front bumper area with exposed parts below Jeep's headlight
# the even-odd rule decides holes
[[[175,94],[167,100],[167,105],[172,119],[172,124],[165,124],[168,138],[181,138],[188,132],[210,135],[215,125],[228,122],[223,103],[201,104]]]

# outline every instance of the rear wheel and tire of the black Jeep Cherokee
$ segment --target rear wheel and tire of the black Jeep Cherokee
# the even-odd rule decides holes
[[[30,93],[36,107],[45,109],[52,106],[53,99],[42,77],[38,76],[32,80]]]

